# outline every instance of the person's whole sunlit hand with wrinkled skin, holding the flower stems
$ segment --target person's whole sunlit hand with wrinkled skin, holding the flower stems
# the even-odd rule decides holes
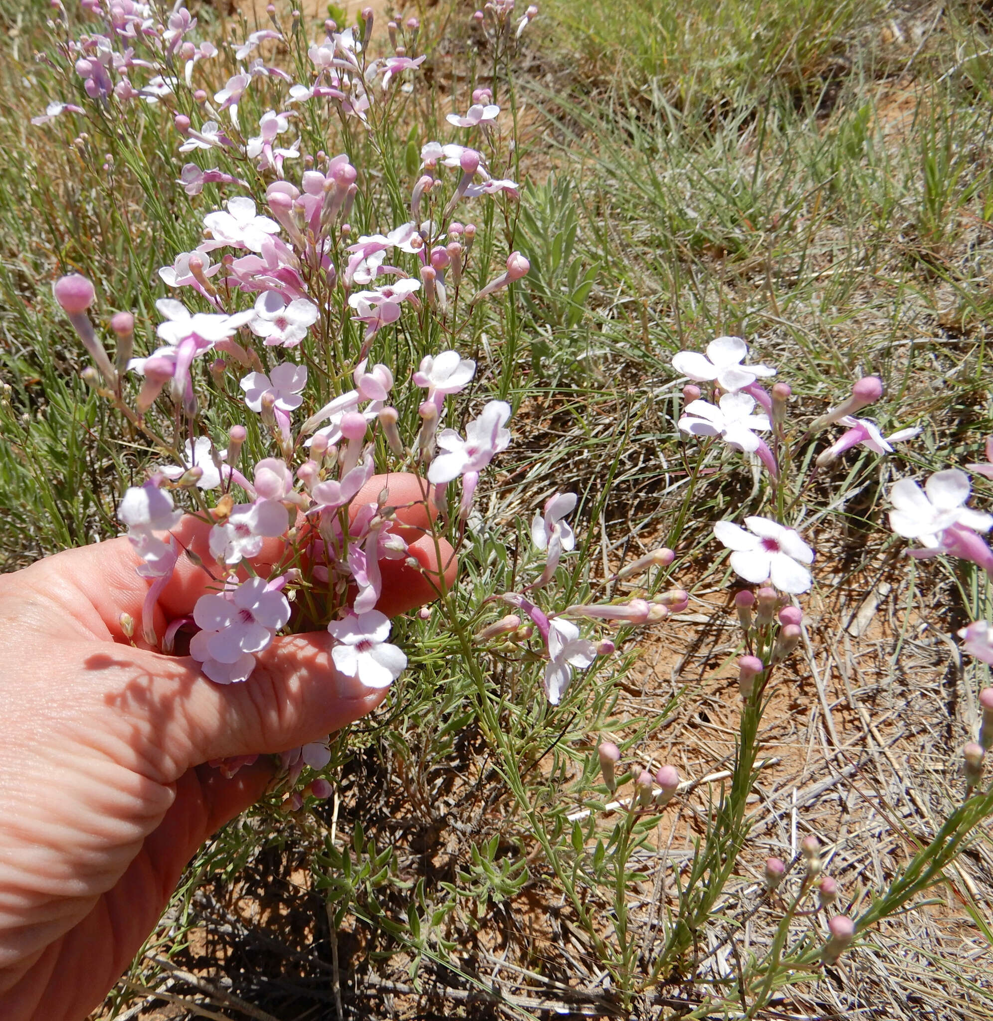
[[[359,500],[375,500],[385,482],[373,479]],[[419,498],[412,476],[391,476],[389,489],[391,503]],[[423,507],[399,516],[414,529],[426,523]],[[208,563],[207,526],[184,518],[174,534]],[[434,596],[433,540],[420,538],[411,552],[423,572],[382,564],[384,613]],[[441,552],[451,583],[451,549]],[[270,545],[259,561],[278,553]],[[148,582],[138,563],[122,538],[0,578],[4,1021],[80,1021],[97,1007],[203,840],[273,778],[268,758],[230,780],[204,763],[316,740],[385,693],[335,672],[326,631],[277,638],[247,682],[228,686],[206,680],[189,658],[132,646],[120,619],[141,619]],[[159,600],[157,634],[208,584],[181,557]]]

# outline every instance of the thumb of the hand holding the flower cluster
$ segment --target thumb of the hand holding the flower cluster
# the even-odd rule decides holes
[[[388,688],[345,677],[326,631],[276,638],[248,680],[216,684],[189,657],[132,649],[126,699],[175,780],[211,759],[276,753],[318,740],[371,713]],[[121,665],[124,666],[124,665]]]

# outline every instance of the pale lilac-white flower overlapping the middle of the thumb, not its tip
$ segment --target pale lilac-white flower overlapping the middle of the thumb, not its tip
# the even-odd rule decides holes
[[[270,591],[264,578],[249,578],[224,595],[201,595],[193,620],[202,630],[190,641],[190,655],[212,681],[245,680],[255,665],[252,653],[268,648],[289,617],[286,596]]]

